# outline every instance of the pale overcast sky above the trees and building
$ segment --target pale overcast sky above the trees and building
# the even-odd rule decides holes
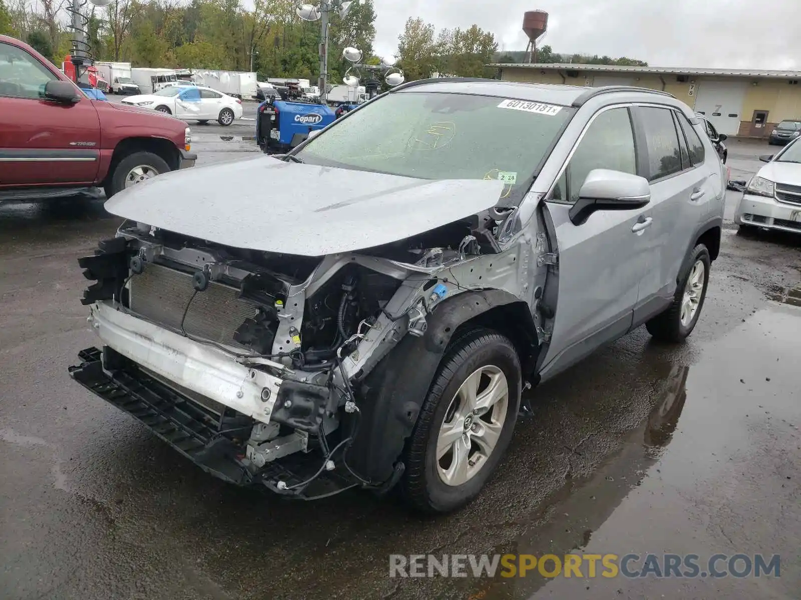
[[[799,0],[373,0],[376,54],[395,53],[409,16],[473,23],[501,50],[525,50],[526,10],[549,13],[554,52],[627,56],[651,66],[801,70]]]

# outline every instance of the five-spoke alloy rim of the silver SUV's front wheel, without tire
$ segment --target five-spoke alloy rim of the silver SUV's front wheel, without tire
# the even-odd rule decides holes
[[[501,437],[509,408],[509,382],[497,366],[473,371],[445,411],[437,435],[437,473],[461,486],[484,466]]]

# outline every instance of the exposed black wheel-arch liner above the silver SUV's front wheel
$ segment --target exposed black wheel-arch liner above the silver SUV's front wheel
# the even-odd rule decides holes
[[[520,302],[503,290],[463,292],[447,298],[429,314],[425,335],[402,338],[359,387],[361,422],[348,453],[350,466],[372,482],[387,481],[417,423],[453,334],[494,308]]]

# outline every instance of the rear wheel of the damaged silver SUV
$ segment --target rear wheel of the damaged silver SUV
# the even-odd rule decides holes
[[[646,329],[654,339],[682,342],[692,333],[698,322],[706,298],[711,266],[706,246],[695,246],[687,264],[689,267],[679,279],[673,302],[664,312],[646,322]]]

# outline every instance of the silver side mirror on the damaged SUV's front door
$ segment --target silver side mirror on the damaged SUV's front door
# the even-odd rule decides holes
[[[582,225],[596,210],[634,210],[650,202],[648,180],[639,175],[594,169],[584,180],[578,200],[570,207],[570,221]]]

